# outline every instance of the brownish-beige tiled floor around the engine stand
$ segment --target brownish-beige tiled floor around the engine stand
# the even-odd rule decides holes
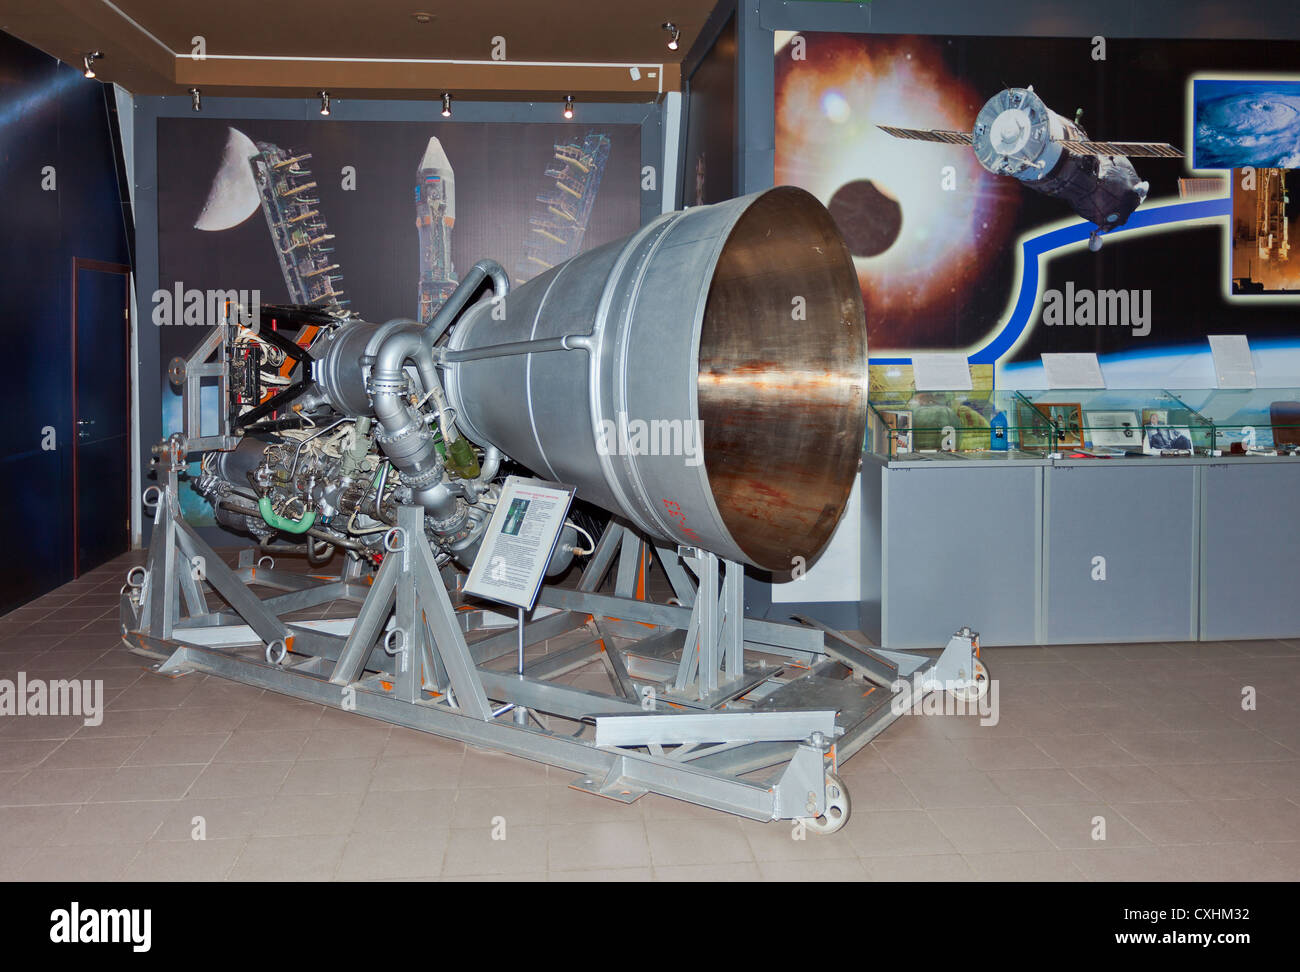
[[[107,700],[99,726],[0,717],[3,878],[1300,877],[1300,643],[988,648],[996,725],[898,720],[842,767],[845,829],[794,841],[789,824],[606,802],[541,764],[150,674],[117,633],[138,560],[0,619],[0,678],[101,680]]]

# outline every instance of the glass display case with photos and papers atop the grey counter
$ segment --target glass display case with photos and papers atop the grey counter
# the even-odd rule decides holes
[[[1300,455],[1300,390],[878,392],[866,451],[884,460]]]

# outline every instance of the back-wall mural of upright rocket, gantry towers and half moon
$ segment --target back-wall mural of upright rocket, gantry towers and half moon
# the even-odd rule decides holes
[[[160,120],[160,292],[429,321],[458,268],[490,257],[523,282],[633,231],[640,160],[636,125]],[[161,361],[200,337],[165,327]]]

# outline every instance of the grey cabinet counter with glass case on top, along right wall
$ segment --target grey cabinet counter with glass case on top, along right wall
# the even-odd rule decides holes
[[[832,547],[802,578],[751,578],[750,608],[853,628],[889,648],[939,647],[962,625],[985,645],[1300,637],[1296,398],[872,402],[870,448]],[[1000,412],[1005,425],[988,421]]]

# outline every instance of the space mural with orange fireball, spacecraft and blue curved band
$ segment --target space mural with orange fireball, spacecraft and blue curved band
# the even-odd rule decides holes
[[[1209,366],[1205,335],[1222,333],[1300,373],[1296,298],[1251,299],[1234,269],[1234,208],[1258,194],[1239,203],[1231,169],[1190,157],[1193,78],[1280,74],[1297,56],[1292,42],[779,31],[775,181],[844,233],[874,387],[909,381],[924,351],[963,351],[978,383],[1002,387],[1037,386],[1044,352],[1097,352],[1108,379],[1169,387],[1188,361]],[[1283,186],[1264,190],[1274,262]]]

